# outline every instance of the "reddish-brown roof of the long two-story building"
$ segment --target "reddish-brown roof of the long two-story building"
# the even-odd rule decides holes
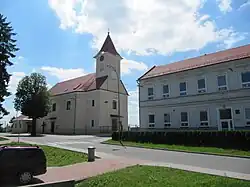
[[[245,45],[216,53],[205,54],[203,56],[190,58],[167,65],[154,66],[144,75],[142,75],[138,80],[158,77],[248,57],[250,57],[250,45]]]

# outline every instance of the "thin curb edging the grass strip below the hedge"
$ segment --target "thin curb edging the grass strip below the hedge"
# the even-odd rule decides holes
[[[117,145],[121,146],[118,144],[114,143],[106,143],[106,142],[101,142],[101,144],[106,144],[106,145]],[[232,158],[246,158],[250,159],[250,156],[236,156],[236,155],[223,155],[223,154],[215,154],[215,153],[206,153],[206,152],[195,152],[195,151],[185,151],[185,150],[172,150],[172,149],[167,149],[167,148],[153,148],[153,147],[143,147],[143,146],[133,146],[133,145],[125,145],[126,147],[135,147],[135,148],[144,148],[144,149],[154,149],[154,150],[162,150],[162,151],[173,151],[173,152],[182,152],[182,153],[194,153],[194,154],[201,154],[201,155],[212,155],[212,156],[223,156],[223,157],[232,157]]]

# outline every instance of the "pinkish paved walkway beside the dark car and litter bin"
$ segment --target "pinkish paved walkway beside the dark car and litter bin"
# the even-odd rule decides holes
[[[48,168],[46,174],[37,178],[46,183],[65,180],[79,181],[137,164],[143,164],[143,161],[119,157],[116,159],[97,159],[95,162]]]

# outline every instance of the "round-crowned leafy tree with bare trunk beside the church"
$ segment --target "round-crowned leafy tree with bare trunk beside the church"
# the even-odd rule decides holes
[[[14,107],[23,115],[32,118],[31,135],[36,136],[36,120],[46,116],[50,110],[50,97],[45,76],[39,73],[25,76],[18,83]]]

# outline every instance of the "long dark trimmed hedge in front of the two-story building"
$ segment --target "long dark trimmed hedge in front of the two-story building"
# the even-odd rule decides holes
[[[118,132],[112,140],[119,140]],[[123,132],[122,140],[250,151],[250,131]]]

